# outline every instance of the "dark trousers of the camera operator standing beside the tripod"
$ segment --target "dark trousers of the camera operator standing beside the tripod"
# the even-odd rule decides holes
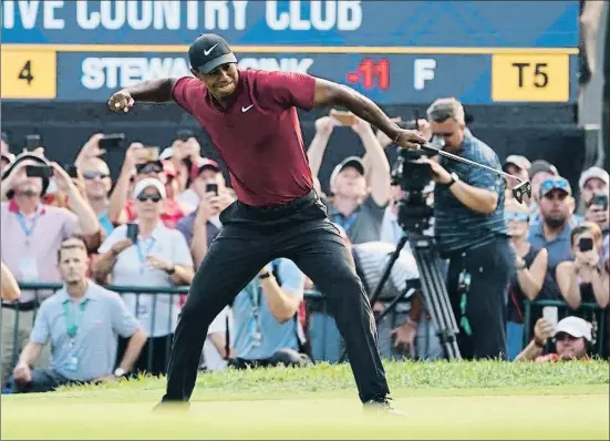
[[[486,245],[448,257],[447,293],[459,327],[457,345],[462,357],[467,360],[506,360],[508,284],[515,268],[508,238],[497,237]],[[465,308],[471,335],[461,326],[463,299],[457,288],[459,274],[464,269],[471,275]]]

